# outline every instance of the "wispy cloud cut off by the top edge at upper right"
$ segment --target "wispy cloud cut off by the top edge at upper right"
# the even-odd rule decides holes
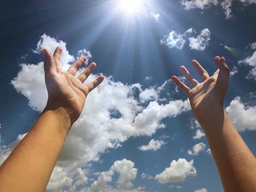
[[[240,0],[244,5],[249,5],[249,4],[255,4],[255,0]],[[233,0],[222,0],[222,1],[217,1],[217,0],[181,0],[181,5],[184,7],[184,9],[206,9],[211,6],[219,6],[222,7],[222,9],[225,10],[225,15],[226,18],[231,18],[232,17],[232,4]]]

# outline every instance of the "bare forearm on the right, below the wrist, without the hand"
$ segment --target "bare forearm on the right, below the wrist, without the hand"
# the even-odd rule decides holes
[[[225,191],[256,191],[255,156],[223,108],[201,124],[206,132]]]

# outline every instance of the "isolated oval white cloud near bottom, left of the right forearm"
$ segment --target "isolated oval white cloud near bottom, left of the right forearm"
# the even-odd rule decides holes
[[[155,179],[162,184],[184,181],[188,176],[197,174],[193,164],[193,160],[188,162],[184,158],[179,158],[178,161],[173,160],[165,171],[155,176]]]

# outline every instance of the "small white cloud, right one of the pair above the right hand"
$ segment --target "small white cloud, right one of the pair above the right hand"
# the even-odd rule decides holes
[[[206,50],[211,40],[211,31],[204,28],[197,37],[189,37],[189,47],[192,50]]]

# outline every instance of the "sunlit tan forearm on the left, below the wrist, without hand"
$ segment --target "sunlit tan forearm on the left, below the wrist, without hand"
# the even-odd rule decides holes
[[[70,126],[63,110],[45,110],[1,166],[0,191],[45,191]]]

